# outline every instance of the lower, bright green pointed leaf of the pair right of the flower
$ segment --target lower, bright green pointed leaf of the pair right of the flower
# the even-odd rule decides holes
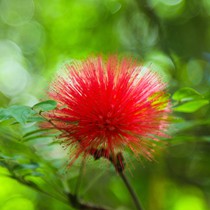
[[[198,109],[200,109],[201,107],[203,107],[207,104],[209,104],[208,100],[189,101],[189,102],[186,102],[178,107],[175,107],[174,111],[191,113],[191,112],[197,111]]]

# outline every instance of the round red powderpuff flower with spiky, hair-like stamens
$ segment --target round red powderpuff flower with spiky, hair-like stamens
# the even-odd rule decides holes
[[[58,107],[46,117],[66,146],[76,149],[72,160],[99,150],[114,156],[126,148],[151,159],[169,124],[170,102],[159,75],[116,57],[66,70],[51,84],[49,96]]]

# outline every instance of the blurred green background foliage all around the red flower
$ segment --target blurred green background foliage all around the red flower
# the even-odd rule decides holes
[[[0,11],[1,107],[36,104],[64,63],[98,54],[135,57],[171,94],[210,98],[209,0],[0,0]],[[174,115],[157,161],[130,158],[127,175],[147,210],[210,209],[209,106]],[[81,162],[66,169],[68,154],[35,127],[0,123],[0,209],[70,210],[63,189],[73,191]],[[85,166],[80,197],[134,209],[106,161]]]

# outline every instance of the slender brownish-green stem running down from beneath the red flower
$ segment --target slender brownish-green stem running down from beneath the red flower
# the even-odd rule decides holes
[[[120,175],[120,177],[122,178],[122,180],[123,180],[125,186],[127,187],[128,191],[129,191],[129,193],[130,193],[130,195],[131,195],[131,197],[132,197],[132,199],[133,199],[133,202],[134,202],[134,204],[135,204],[135,206],[136,206],[136,209],[137,209],[137,210],[143,210],[143,208],[142,208],[142,206],[141,206],[141,204],[140,204],[140,202],[139,202],[139,199],[138,199],[136,193],[134,192],[134,190],[133,190],[133,188],[132,188],[130,182],[128,181],[128,179],[127,179],[127,177],[125,176],[125,174],[123,173],[123,171],[119,172],[119,175]]]

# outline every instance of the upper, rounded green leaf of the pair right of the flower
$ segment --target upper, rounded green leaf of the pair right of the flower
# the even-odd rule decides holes
[[[196,90],[192,88],[181,88],[177,90],[173,96],[172,99],[176,101],[190,101],[190,100],[195,100],[195,99],[201,99],[203,98],[202,95],[197,92]]]

